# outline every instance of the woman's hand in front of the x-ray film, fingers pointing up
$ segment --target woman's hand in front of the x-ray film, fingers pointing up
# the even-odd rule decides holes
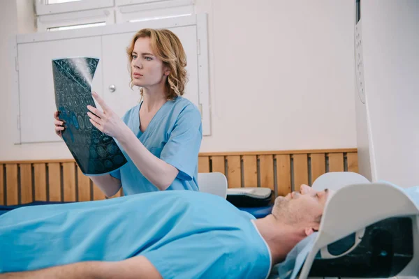
[[[91,96],[101,105],[103,110],[102,112],[96,107],[92,107],[91,105],[87,106],[87,109],[90,111],[87,112],[87,115],[90,117],[91,124],[110,137],[115,137],[116,139],[121,137],[128,126],[105,104],[105,101],[103,101],[101,96],[98,96],[98,93],[92,92]]]

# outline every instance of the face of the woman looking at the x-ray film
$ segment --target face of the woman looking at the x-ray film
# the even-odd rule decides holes
[[[163,61],[154,56],[150,38],[138,38],[131,56],[131,75],[135,86],[147,88],[165,84],[169,70]]]

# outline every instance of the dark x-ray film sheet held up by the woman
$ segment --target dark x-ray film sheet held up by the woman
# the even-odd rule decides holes
[[[91,57],[52,60],[55,105],[66,127],[62,137],[87,175],[106,174],[126,163],[115,140],[91,125],[87,115],[87,105],[96,107],[91,81],[98,62]]]

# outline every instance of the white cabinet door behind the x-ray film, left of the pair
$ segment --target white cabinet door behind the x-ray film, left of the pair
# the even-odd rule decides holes
[[[27,142],[61,141],[54,133],[55,107],[52,59],[101,56],[101,37],[21,43],[19,60],[20,139]],[[102,66],[98,64],[91,89],[102,92]]]

